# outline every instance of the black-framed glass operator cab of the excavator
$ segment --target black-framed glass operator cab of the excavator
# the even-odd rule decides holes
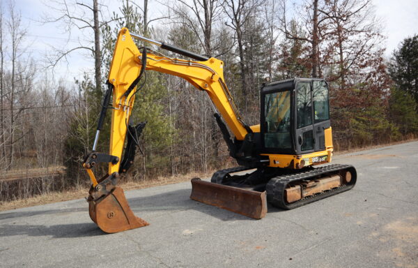
[[[261,151],[307,154],[325,150],[330,128],[325,80],[294,78],[264,84],[261,89]]]

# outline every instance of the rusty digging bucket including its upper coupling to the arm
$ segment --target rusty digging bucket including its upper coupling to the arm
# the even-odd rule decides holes
[[[134,215],[127,204],[122,188],[116,186],[117,174],[112,174],[91,186],[88,196],[88,213],[103,232],[123,232],[149,225]]]

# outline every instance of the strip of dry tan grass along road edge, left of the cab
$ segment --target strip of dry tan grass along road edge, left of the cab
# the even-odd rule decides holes
[[[183,181],[189,181],[194,177],[207,178],[212,175],[214,170],[206,173],[193,172],[188,174],[179,174],[171,177],[157,177],[153,180],[144,180],[144,181],[132,181],[129,178],[127,181],[121,181],[121,186],[123,190],[132,190],[132,189],[143,189],[150,188],[154,186],[161,186],[167,184],[177,184]],[[32,207],[39,204],[50,204],[55,202],[63,202],[68,200],[75,200],[79,198],[86,198],[88,195],[88,188],[75,188],[70,191],[65,192],[52,192],[44,195],[36,195],[31,198],[13,200],[8,202],[0,201],[0,211],[10,210],[10,209],[19,209],[22,207]]]

